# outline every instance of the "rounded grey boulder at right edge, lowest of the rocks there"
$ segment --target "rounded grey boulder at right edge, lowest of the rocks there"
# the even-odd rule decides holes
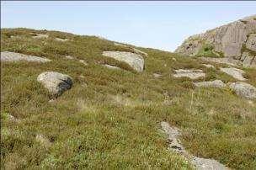
[[[229,83],[231,88],[237,95],[248,99],[256,98],[256,88],[246,82],[232,82]]]

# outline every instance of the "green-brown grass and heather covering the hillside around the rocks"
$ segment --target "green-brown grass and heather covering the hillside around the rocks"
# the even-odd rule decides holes
[[[50,37],[33,39],[36,33]],[[60,42],[56,37],[70,40]],[[202,66],[196,58],[162,50],[136,47],[148,54],[141,73],[102,56],[104,50],[133,51],[131,47],[95,36],[2,29],[1,51],[52,61],[1,63],[1,167],[191,169],[183,157],[167,150],[159,125],[163,120],[183,130],[182,142],[194,155],[237,169],[256,167],[256,101],[248,104],[228,88],[195,88],[188,78],[172,75],[173,69],[199,68],[206,77],[197,81],[235,79]],[[67,55],[87,61],[88,66]],[[108,69],[101,66],[104,63],[126,71]],[[73,78],[73,87],[54,102],[36,81],[46,71]],[[244,71],[256,86],[256,70]],[[9,114],[17,120],[9,120]],[[51,143],[41,145],[35,140],[39,134]]]

